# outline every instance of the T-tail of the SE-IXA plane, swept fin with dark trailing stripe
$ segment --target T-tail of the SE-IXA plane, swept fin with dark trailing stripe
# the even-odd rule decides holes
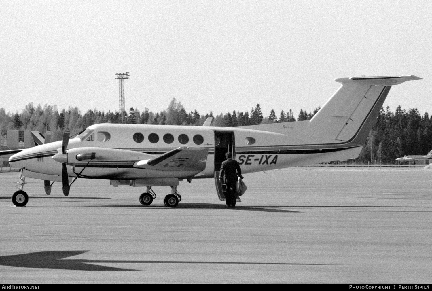
[[[350,77],[309,121],[304,134],[364,144],[391,86],[420,77]]]

